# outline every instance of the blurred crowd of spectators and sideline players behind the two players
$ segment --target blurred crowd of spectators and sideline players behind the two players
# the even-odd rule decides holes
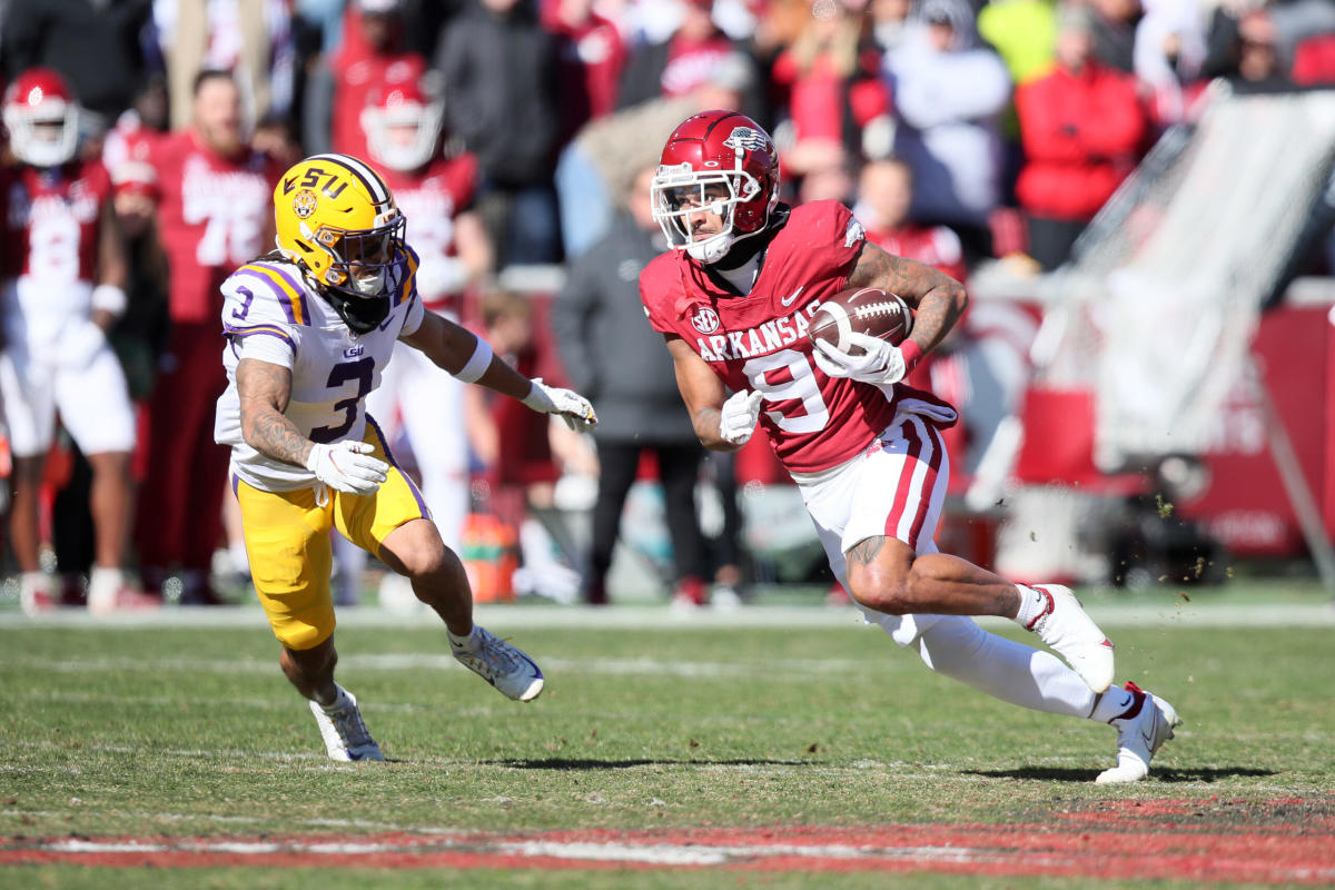
[[[384,172],[429,308],[525,374],[573,384],[602,419],[590,447],[414,356],[386,378],[371,414],[422,479],[446,542],[466,562],[470,548],[522,554],[513,575],[477,575],[479,594],[615,599],[607,572],[627,495],[657,476],[666,582],[686,603],[736,602],[736,482],[781,479],[765,455],[705,460],[643,324],[635,280],[665,248],[647,175],[673,127],[708,108],[750,115],[781,149],[785,200],[845,201],[873,242],[961,280],[996,258],[1052,270],[1157,136],[1199,119],[1219,92],[1210,84],[1335,84],[1335,5],[7,0],[0,68],[0,200],[9,246],[27,248],[8,250],[0,275],[9,550],[25,607],[208,604],[223,599],[222,575],[244,575],[227,454],[212,439],[218,286],[270,250],[280,171],[330,151]],[[93,195],[92,219],[41,234],[43,195]],[[517,270],[555,264],[563,279],[537,280],[563,286],[515,292],[542,291],[514,286]],[[61,282],[87,295],[48,299]],[[43,340],[33,319],[52,312]],[[132,435],[107,432],[115,399],[79,383],[100,347],[89,322],[120,360]],[[1019,310],[973,312],[918,382],[965,418],[971,398],[1004,414],[1032,328]],[[971,348],[1004,354],[1004,391],[971,386]],[[29,368],[43,362],[65,376],[39,399]],[[17,404],[24,394],[32,404]],[[45,403],[65,432],[44,431]],[[967,471],[971,442],[953,446]],[[709,535],[701,479],[722,506]],[[562,503],[591,512],[589,535],[553,519]],[[344,548],[339,562],[340,598],[355,600],[360,560]],[[382,590],[384,602],[405,596]]]

